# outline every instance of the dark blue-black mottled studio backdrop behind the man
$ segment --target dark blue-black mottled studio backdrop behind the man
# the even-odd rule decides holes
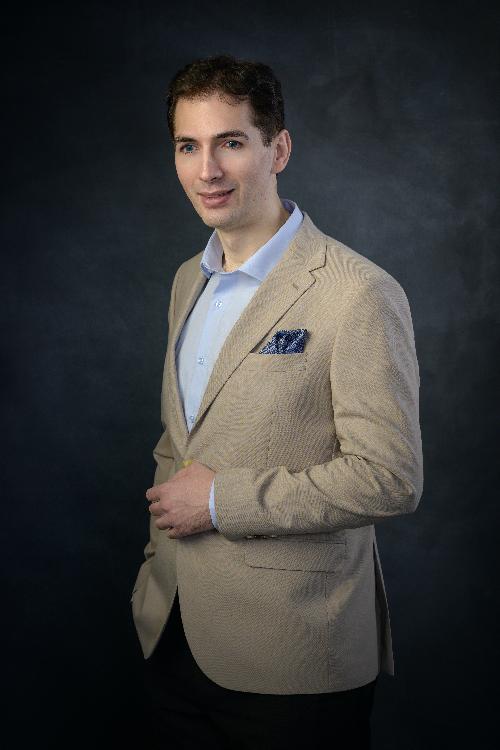
[[[129,599],[170,284],[210,234],[177,181],[163,95],[224,52],[282,81],[280,195],[412,309],[425,489],[377,528],[397,674],[379,680],[374,748],[496,746],[496,5],[4,9],[4,747],[127,747],[148,722]]]

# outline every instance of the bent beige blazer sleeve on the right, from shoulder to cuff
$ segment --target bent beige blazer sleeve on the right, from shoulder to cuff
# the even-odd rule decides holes
[[[414,511],[423,488],[419,385],[403,289],[389,274],[360,284],[347,295],[331,351],[334,458],[299,472],[218,472],[220,533],[335,532]]]

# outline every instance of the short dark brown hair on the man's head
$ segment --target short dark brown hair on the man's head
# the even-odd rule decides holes
[[[174,139],[175,107],[181,97],[196,99],[221,94],[229,99],[248,101],[253,124],[261,132],[264,146],[285,127],[285,106],[281,84],[268,65],[218,55],[195,60],[179,70],[168,87],[167,120]]]

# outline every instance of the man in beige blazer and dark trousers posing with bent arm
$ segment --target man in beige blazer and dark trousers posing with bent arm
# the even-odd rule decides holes
[[[291,138],[270,68],[198,60],[168,113],[214,232],[172,286],[132,596],[152,729],[159,746],[367,748],[394,673],[374,523],[422,492],[408,302],[280,200]]]

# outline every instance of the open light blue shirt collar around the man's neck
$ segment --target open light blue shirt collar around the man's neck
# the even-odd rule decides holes
[[[200,261],[201,270],[205,276],[210,278],[213,273],[220,273],[225,276],[236,273],[245,273],[258,281],[263,281],[285,252],[304,218],[302,211],[293,201],[283,198],[281,203],[290,214],[288,219],[283,226],[278,229],[276,234],[271,237],[271,239],[256,250],[255,253],[253,253],[253,255],[251,255],[250,258],[242,263],[235,271],[222,270],[223,250],[219,236],[216,230],[214,230],[208,240]]]

